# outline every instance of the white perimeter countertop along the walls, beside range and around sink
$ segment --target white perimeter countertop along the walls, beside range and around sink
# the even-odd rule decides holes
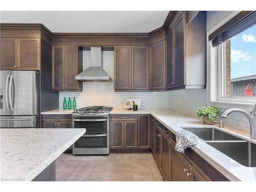
[[[53,110],[44,113],[60,114],[60,111],[61,110]],[[176,133],[185,127],[213,126],[203,124],[202,119],[198,119],[194,116],[184,115],[180,112],[175,112],[170,109],[139,109],[138,111],[113,109],[110,114],[151,114],[173,133]],[[256,144],[256,140],[251,139],[248,133],[231,129],[229,127],[225,127],[225,129],[220,129],[217,126],[214,127]],[[256,167],[243,166],[237,161],[234,161],[233,159],[219,152],[214,147],[208,145],[206,142],[201,142],[196,146],[192,146],[191,148],[231,181],[256,180]]]

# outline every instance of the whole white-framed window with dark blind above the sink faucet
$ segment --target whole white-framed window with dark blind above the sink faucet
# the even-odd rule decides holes
[[[236,24],[228,22],[208,33],[207,101],[222,108],[251,109],[256,102],[256,13]]]

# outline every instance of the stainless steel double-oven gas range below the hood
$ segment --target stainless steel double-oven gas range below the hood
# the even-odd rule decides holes
[[[72,113],[73,128],[86,128],[86,133],[73,144],[74,155],[110,153],[110,106],[87,106]]]

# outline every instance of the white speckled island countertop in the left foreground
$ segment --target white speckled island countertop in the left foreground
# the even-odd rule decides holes
[[[1,180],[33,180],[85,132],[85,129],[1,129]]]

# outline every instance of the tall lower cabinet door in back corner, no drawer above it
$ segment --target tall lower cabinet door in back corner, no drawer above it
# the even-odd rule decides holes
[[[151,148],[150,115],[138,115],[138,148]]]

